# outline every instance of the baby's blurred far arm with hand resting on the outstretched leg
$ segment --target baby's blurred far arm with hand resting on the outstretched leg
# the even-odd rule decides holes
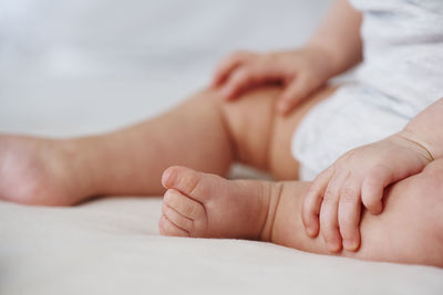
[[[362,59],[361,14],[347,0],[336,0],[317,32],[298,50],[237,52],[218,65],[213,86],[220,86],[227,101],[265,83],[281,83],[285,92],[277,110],[286,114],[330,77]]]

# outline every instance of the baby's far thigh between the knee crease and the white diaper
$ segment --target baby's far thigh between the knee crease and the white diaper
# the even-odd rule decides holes
[[[290,150],[293,130],[306,114],[334,89],[324,87],[312,93],[287,116],[275,112],[281,87],[251,89],[236,102],[222,104],[235,159],[268,171],[279,180],[298,179],[298,162]]]

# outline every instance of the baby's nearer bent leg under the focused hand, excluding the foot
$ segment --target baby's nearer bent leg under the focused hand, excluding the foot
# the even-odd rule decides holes
[[[286,182],[275,218],[271,241],[315,253],[328,253],[323,240],[305,234],[300,212],[307,183]],[[361,218],[361,246],[339,255],[372,261],[443,266],[443,160],[393,185],[380,215]]]

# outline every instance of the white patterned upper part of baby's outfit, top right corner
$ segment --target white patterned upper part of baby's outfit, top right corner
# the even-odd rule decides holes
[[[363,12],[359,81],[414,116],[443,96],[443,1],[351,0]],[[398,110],[400,112],[400,109]]]

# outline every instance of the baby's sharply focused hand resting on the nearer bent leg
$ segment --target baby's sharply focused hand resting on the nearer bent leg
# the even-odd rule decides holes
[[[433,160],[424,146],[404,131],[356,148],[341,156],[311,183],[305,196],[302,221],[307,233],[319,229],[330,252],[360,246],[361,203],[373,214],[382,211],[384,189],[419,173]]]

